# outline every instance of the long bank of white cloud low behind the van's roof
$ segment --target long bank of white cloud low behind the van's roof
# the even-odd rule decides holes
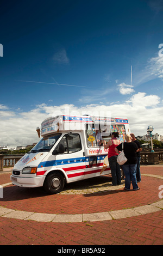
[[[2,114],[3,113],[3,114]],[[88,104],[83,107],[74,105],[47,106],[45,103],[37,105],[28,112],[1,111],[0,145],[28,145],[38,142],[36,126],[51,116],[59,114],[70,115],[109,115],[111,117],[127,117],[131,132],[135,135],[145,135],[148,125],[154,127],[153,133],[163,135],[163,106],[157,95],[137,93],[130,100],[123,103],[112,102],[111,105]]]

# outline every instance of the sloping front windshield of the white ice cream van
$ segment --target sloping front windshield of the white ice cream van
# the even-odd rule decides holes
[[[29,153],[36,153],[40,151],[50,151],[51,148],[54,146],[54,144],[58,141],[60,138],[61,133],[57,133],[56,135],[53,135],[52,137],[44,137],[35,145],[35,147],[29,151]]]

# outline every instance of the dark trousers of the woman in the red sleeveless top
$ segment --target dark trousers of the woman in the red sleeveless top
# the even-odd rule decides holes
[[[111,156],[108,158],[109,166],[111,169],[112,185],[121,184],[121,170],[120,165],[117,163],[117,156]]]

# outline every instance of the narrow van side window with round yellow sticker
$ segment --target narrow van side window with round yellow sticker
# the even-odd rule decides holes
[[[96,131],[94,124],[86,124],[86,142],[88,148],[97,147]]]

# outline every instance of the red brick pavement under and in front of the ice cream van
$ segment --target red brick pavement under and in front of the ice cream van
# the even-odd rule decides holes
[[[135,209],[160,201],[158,188],[163,185],[163,166],[141,166],[141,173],[140,190],[129,192],[123,191],[123,185],[112,188],[108,176],[100,181],[96,178],[69,184],[64,192],[48,196],[40,188],[8,185],[0,205],[17,211],[84,215]],[[9,176],[8,172],[1,173],[0,184],[8,184]],[[106,221],[73,223],[0,217],[0,245],[163,245],[162,217],[161,209],[128,218],[122,215]]]

